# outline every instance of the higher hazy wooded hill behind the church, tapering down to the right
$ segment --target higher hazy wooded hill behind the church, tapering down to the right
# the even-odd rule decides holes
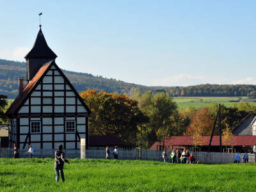
[[[62,69],[63,70],[63,69]],[[100,92],[125,93],[131,95],[135,90],[141,92],[155,91],[159,88],[142,86],[134,83],[125,83],[116,79],[107,79],[92,74],[71,72],[63,70],[77,92],[92,89]],[[18,90],[18,77],[26,78],[26,63],[17,61],[0,60],[0,95],[7,95],[8,99],[15,99]]]

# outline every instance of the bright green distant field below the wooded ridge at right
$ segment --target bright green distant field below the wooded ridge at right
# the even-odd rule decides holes
[[[241,97],[241,99],[246,98],[247,97]],[[200,108],[208,106],[212,102],[225,104],[225,106],[230,107],[234,102],[239,102],[240,97],[174,97],[173,99],[177,102],[179,108],[188,108],[189,106]],[[256,106],[256,102],[249,103]]]

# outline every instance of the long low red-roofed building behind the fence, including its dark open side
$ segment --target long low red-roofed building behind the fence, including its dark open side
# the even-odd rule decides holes
[[[172,136],[166,137],[161,142],[155,142],[150,150],[163,150],[166,148],[167,150],[173,150],[177,147],[183,148],[193,148],[193,146],[197,145],[198,150],[207,151],[208,145],[210,143],[211,136],[202,136],[193,138],[193,136]],[[220,145],[220,136],[213,136],[211,143],[211,151],[219,151]],[[256,145],[256,136],[234,136],[232,139],[228,141],[222,141],[223,150],[225,148],[234,148],[236,151],[250,151],[252,152],[253,146]],[[233,152],[235,151],[233,150]]]

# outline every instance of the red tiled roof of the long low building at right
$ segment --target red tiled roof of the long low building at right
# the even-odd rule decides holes
[[[172,136],[170,138],[165,138],[164,145],[166,146],[192,146],[196,141],[202,143],[202,146],[207,146],[210,143],[211,136],[202,136],[200,138],[193,138],[193,136]],[[231,141],[232,146],[252,146],[256,145],[256,136],[253,135],[243,135],[243,136],[234,136],[234,140]],[[157,145],[163,145],[163,141],[154,143],[150,150],[157,150]],[[220,136],[212,137],[212,146],[220,145]],[[222,140],[222,145],[225,145],[225,142]]]

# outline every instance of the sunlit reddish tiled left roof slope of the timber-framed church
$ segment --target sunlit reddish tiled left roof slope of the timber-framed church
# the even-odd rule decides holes
[[[10,106],[10,108],[8,109],[8,111],[6,111],[6,114],[8,116],[12,116],[13,113],[17,113],[17,110],[20,108],[20,106],[24,102],[26,102],[27,96],[29,95],[31,90],[33,90],[33,87],[39,81],[40,77],[42,77],[42,75],[47,70],[47,68],[49,68],[51,63],[52,63],[52,61],[49,61],[48,63],[45,63],[44,65],[42,65],[42,67],[38,70],[38,72],[35,74],[33,79],[31,81],[29,81],[29,83],[24,87],[22,93],[19,94],[18,97],[16,97],[16,99],[13,101],[13,103]]]

